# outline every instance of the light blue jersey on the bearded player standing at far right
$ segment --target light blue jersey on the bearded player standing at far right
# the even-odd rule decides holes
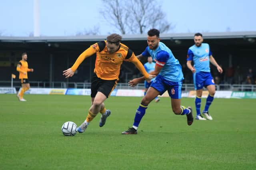
[[[210,59],[212,55],[208,43],[202,43],[200,47],[193,45],[188,49],[187,61],[194,62],[196,73],[200,71],[210,72]]]

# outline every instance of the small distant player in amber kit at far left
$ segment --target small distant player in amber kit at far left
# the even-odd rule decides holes
[[[17,97],[20,101],[26,101],[25,99],[23,99],[23,95],[25,93],[25,91],[27,91],[30,88],[30,84],[28,81],[28,71],[33,72],[34,69],[29,69],[28,68],[28,55],[27,53],[22,53],[21,55],[22,59],[20,60],[20,62],[17,65],[16,70],[18,72],[20,72],[20,82],[21,82],[21,91],[20,93],[18,93]]]

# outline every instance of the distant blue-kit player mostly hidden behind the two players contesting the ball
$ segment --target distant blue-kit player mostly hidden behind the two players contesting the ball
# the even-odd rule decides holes
[[[153,59],[151,56],[148,56],[148,62],[146,62],[143,66],[145,68],[145,70],[147,71],[147,73],[150,73],[151,71],[154,71],[155,70],[155,65],[156,63],[153,62]],[[144,81],[144,95],[146,95],[147,91],[148,91],[148,87],[150,87],[151,83],[154,81],[154,79],[156,78],[153,78],[150,80],[150,82],[148,81]],[[160,99],[158,97],[155,98],[155,101],[158,102],[160,101]]]

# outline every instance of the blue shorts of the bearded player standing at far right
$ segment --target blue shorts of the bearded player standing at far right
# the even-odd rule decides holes
[[[193,74],[193,82],[195,90],[200,90],[208,85],[215,85],[211,73],[202,71]]]

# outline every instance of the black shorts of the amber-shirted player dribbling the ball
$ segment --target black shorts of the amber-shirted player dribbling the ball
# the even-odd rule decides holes
[[[107,98],[114,90],[117,85],[117,79],[115,80],[103,80],[97,77],[96,73],[92,76],[92,84],[91,84],[91,97],[95,97],[97,92],[100,91]]]

